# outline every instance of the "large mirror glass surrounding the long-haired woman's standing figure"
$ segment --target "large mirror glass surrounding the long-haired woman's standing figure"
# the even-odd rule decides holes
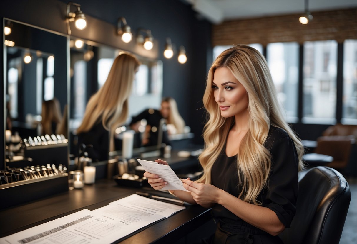
[[[124,50],[104,44],[70,38],[70,142],[71,155],[79,155],[85,145],[78,145],[76,129],[82,123],[86,104],[90,97],[105,83],[114,59]],[[148,108],[158,109],[162,99],[162,62],[136,55],[141,65],[135,75],[132,93],[129,97],[129,117],[115,135],[115,146],[112,150],[122,149],[121,132],[130,129],[133,116]],[[135,135],[140,138],[140,133]],[[83,147],[81,147],[83,146]],[[141,147],[134,143],[134,147]],[[109,148],[107,149],[109,152]],[[120,154],[120,152],[118,152]]]

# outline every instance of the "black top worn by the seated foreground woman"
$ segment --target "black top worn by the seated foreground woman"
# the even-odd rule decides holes
[[[264,146],[270,151],[272,165],[268,177],[268,186],[257,197],[261,206],[274,211],[285,227],[289,228],[296,212],[298,192],[298,156],[293,140],[281,128],[270,127]],[[212,166],[212,185],[230,193],[239,195],[237,155],[227,157],[226,145]],[[212,214],[218,220],[228,223],[242,223],[245,227],[257,229],[244,222],[222,205],[216,204]]]

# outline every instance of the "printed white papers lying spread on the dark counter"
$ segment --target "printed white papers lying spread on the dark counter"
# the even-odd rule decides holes
[[[0,238],[7,244],[105,244],[185,209],[136,194]]]

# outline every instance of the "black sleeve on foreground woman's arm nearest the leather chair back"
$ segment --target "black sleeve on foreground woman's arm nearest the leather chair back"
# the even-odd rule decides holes
[[[296,212],[298,193],[298,156],[290,137],[272,143],[272,170],[268,178],[265,202],[286,228],[290,227]]]

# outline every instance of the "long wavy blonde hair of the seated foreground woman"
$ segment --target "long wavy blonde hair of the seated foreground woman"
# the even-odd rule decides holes
[[[235,123],[234,116],[221,116],[213,95],[213,75],[219,67],[228,68],[248,93],[248,132],[242,139],[237,155],[238,184],[242,187],[238,198],[261,205],[256,198],[263,187],[267,186],[271,170],[271,155],[264,147],[270,126],[284,129],[295,143],[299,170],[303,169],[303,146],[283,119],[265,58],[252,47],[237,45],[222,52],[208,72],[203,95],[208,121],[203,131],[205,149],[199,157],[204,173],[198,181],[210,184],[212,165],[221,153],[228,132]]]

